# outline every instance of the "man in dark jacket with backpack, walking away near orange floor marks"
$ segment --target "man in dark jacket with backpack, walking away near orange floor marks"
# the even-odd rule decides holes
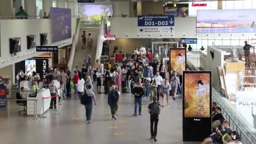
[[[116,112],[117,112],[117,102],[119,100],[119,93],[115,91],[116,87],[115,85],[112,85],[112,90],[109,91],[107,96],[107,103],[109,104],[112,119],[117,120]]]

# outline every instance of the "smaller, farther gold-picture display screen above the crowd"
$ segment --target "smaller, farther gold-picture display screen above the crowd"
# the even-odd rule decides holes
[[[170,48],[170,75],[177,72],[177,76],[182,75],[186,70],[187,51],[186,48]]]

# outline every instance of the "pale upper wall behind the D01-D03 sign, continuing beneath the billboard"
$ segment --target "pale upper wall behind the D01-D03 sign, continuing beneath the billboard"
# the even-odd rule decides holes
[[[137,18],[114,17],[111,20],[111,35],[117,34],[117,38],[207,38],[207,37],[256,37],[256,33],[196,33],[196,17],[175,18],[173,36],[171,33],[162,34],[141,34],[138,37]],[[128,37],[126,37],[128,34]],[[183,36],[183,35],[186,36]],[[197,36],[196,36],[197,34]],[[244,34],[244,35],[243,35]],[[208,36],[207,36],[208,35]]]

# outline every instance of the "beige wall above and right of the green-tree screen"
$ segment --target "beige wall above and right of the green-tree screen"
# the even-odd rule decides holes
[[[99,2],[95,1],[94,3],[85,3],[86,5],[113,5],[113,15],[114,16],[121,16],[121,14],[129,15],[129,1],[117,1],[117,2]]]

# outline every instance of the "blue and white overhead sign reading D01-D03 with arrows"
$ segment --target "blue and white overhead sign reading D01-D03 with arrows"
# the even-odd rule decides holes
[[[172,33],[174,16],[138,16],[139,33]]]

